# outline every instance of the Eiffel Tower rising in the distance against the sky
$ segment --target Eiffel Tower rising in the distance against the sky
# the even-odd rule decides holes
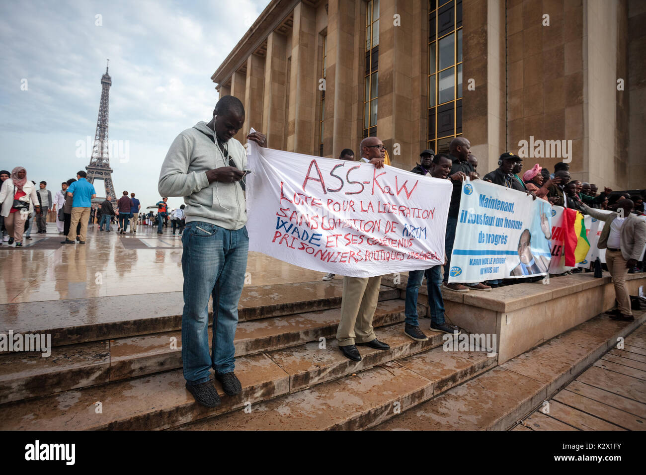
[[[108,59],[108,61],[110,61]],[[108,63],[109,64],[109,63]],[[94,180],[103,180],[105,193],[116,202],[114,185],[112,184],[112,169],[110,168],[110,157],[108,156],[108,104],[112,78],[108,74],[108,67],[105,67],[105,74],[101,76],[101,103],[99,103],[99,118],[96,121],[96,134],[94,135],[94,147],[90,165],[87,170],[87,181],[94,183]],[[95,202],[103,202],[105,198],[94,198]]]

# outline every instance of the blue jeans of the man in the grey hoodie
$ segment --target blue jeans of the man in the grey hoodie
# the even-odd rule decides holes
[[[184,378],[199,384],[235,366],[233,337],[238,301],[247,269],[249,235],[201,221],[186,224],[182,233],[184,310],[182,362]],[[213,295],[213,350],[209,355],[209,296]]]

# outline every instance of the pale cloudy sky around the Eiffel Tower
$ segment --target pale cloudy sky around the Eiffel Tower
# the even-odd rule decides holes
[[[123,141],[110,155],[116,193],[155,204],[169,145],[210,119],[218,96],[211,75],[268,3],[3,0],[0,169],[23,165],[52,193],[85,169],[79,143],[89,141],[91,154],[109,58],[109,138]],[[96,189],[105,196],[103,182]],[[169,198],[171,207],[182,202]]]

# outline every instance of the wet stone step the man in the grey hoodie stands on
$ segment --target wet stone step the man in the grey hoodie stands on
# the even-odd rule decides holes
[[[428,328],[430,321],[422,319],[422,328]],[[171,370],[146,375],[127,381],[70,390],[54,396],[29,401],[17,401],[0,406],[1,430],[150,430],[171,428],[204,417],[225,414],[242,408],[245,403],[258,405],[262,401],[307,390],[313,385],[325,385],[339,377],[353,378],[362,370],[370,370],[379,364],[390,364],[394,358],[406,357],[424,352],[442,343],[441,333],[425,330],[429,341],[419,342],[403,334],[402,324],[395,324],[376,330],[377,337],[391,345],[391,350],[382,352],[360,347],[363,359],[353,362],[344,357],[334,340],[319,348],[318,341],[293,348],[276,350],[267,354],[248,355],[237,359],[236,375],[242,383],[242,393],[229,397],[224,395],[219,383],[218,392],[222,405],[209,409],[195,403],[193,396],[185,389],[182,370]],[[441,350],[436,355],[442,359]],[[456,355],[463,361],[464,354]],[[495,364],[495,358],[479,357],[482,368]],[[443,366],[446,381],[457,381],[456,372],[472,366],[448,361]],[[395,364],[396,367],[401,364]],[[404,368],[404,366],[401,366]],[[398,370],[399,371],[399,370]],[[381,373],[382,370],[379,370]],[[422,395],[433,392],[433,382],[414,370],[406,369],[404,379],[409,383],[425,381]],[[467,371],[468,373],[468,371]],[[430,387],[427,387],[431,385]],[[318,386],[316,386],[318,387]],[[397,384],[391,385],[399,388]],[[370,399],[370,388],[364,388],[364,396]],[[399,392],[401,388],[397,389]],[[418,391],[419,392],[419,391]],[[335,396],[336,397],[336,396]],[[340,400],[343,399],[339,396]]]

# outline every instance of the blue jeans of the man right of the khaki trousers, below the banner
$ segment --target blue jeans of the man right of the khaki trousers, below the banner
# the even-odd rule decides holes
[[[426,291],[428,291],[428,306],[431,311],[433,324],[443,325],[444,299],[442,298],[442,273],[441,266],[433,266],[425,271],[410,271],[406,285],[406,324],[419,326],[417,321],[417,295],[419,286],[426,275]]]

